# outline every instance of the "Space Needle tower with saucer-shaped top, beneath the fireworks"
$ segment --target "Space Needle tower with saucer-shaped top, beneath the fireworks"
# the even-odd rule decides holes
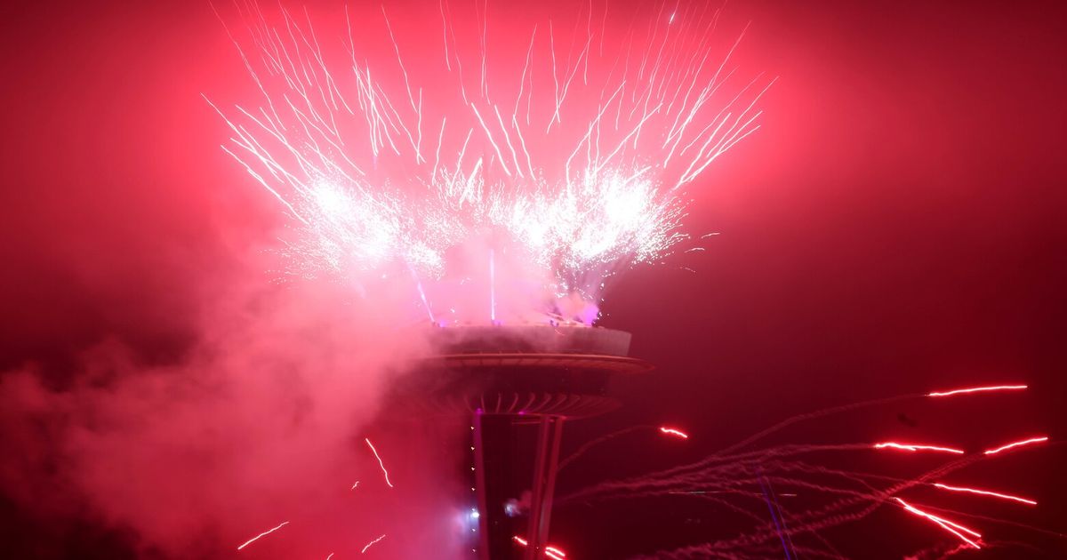
[[[472,419],[472,556],[558,557],[546,547],[563,423],[617,407],[609,381],[652,366],[628,356],[630,333],[585,325],[448,326],[431,340],[419,400]]]

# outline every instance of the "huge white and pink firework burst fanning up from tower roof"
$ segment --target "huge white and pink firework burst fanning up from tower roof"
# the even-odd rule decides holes
[[[368,272],[410,269],[433,322],[445,309],[456,321],[593,321],[608,277],[689,238],[686,189],[760,128],[757,105],[775,81],[724,87],[744,32],[713,49],[719,12],[706,4],[653,13],[648,30],[622,35],[582,7],[570,50],[547,20],[514,61],[495,55],[485,18],[466,30],[479,48],[464,48],[465,21],[443,7],[443,68],[412,64],[418,45],[398,37],[384,7],[377,22],[346,10],[347,41],[325,48],[285,9],[277,26],[238,10],[257,51],[234,43],[262,105],[211,107],[233,132],[223,149],[293,221],[291,272],[362,286]],[[366,58],[372,47],[355,37],[372,31],[392,57]],[[343,62],[331,47],[344,47]],[[463,282],[449,281],[449,251],[472,245],[489,256],[490,309],[457,311]],[[528,265],[509,273],[504,254]],[[558,302],[573,298],[593,311],[564,313]]]

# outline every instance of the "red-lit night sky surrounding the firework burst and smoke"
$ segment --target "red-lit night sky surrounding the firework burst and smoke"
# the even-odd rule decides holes
[[[739,63],[781,77],[764,128],[701,179],[712,188],[688,229],[720,233],[707,250],[634,270],[608,293],[602,324],[632,332],[632,353],[658,369],[621,383],[626,406],[570,426],[564,446],[644,421],[694,436],[684,447],[620,439],[571,467],[560,492],[696,460],[801,412],[961,385],[1031,390],[864,410],[771,443],[933,437],[981,449],[1064,437],[1067,10],[729,10],[753,21]],[[33,362],[68,379],[103,339],[143,363],[178,359],[204,294],[283,220],[218,148],[224,125],[200,96],[246,92],[239,61],[206,3],[9,3],[0,18],[0,368]],[[968,470],[976,485],[1036,496],[1037,509],[966,506],[1067,531],[1065,459],[1052,445]],[[70,557],[122,548],[92,524],[52,526],[6,498],[0,508],[0,549],[44,539],[80,551]],[[554,538],[577,559],[618,558],[699,540],[728,524],[717,515],[688,503],[561,508]],[[991,527],[1036,548],[974,557],[1067,555],[1063,538]],[[946,539],[885,509],[827,537],[856,558]]]

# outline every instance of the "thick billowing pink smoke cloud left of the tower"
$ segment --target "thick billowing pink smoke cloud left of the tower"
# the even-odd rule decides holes
[[[3,492],[46,521],[114,528],[140,557],[343,558],[386,534],[387,557],[442,558],[460,495],[449,438],[376,423],[419,338],[336,283],[258,273],[205,303],[173,363],[111,338],[62,382],[34,364],[4,373]]]

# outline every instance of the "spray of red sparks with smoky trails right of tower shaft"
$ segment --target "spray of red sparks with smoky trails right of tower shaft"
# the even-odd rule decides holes
[[[982,388],[985,387],[973,387]],[[972,389],[973,389],[972,388]],[[972,389],[961,389],[974,393]],[[991,390],[991,389],[986,389]],[[1018,389],[1006,389],[1018,390]],[[949,391],[946,391],[949,393]],[[966,394],[964,393],[964,394]],[[960,394],[960,393],[955,393]],[[917,443],[882,442],[878,444],[786,444],[757,446],[755,444],[783,431],[795,423],[809,422],[825,417],[851,413],[860,409],[878,407],[895,404],[906,400],[926,400],[929,394],[908,394],[895,397],[865,400],[850,404],[831,406],[815,412],[798,414],[781,420],[770,428],[758,432],[742,442],[730,445],[694,463],[676,465],[643,475],[631,476],[618,480],[596,483],[579,490],[571,495],[558,498],[557,503],[590,505],[598,500],[617,500],[633,497],[653,498],[668,496],[699,497],[708,503],[724,508],[737,514],[738,519],[751,519],[749,529],[733,534],[724,534],[708,542],[689,544],[673,549],[660,550],[648,558],[763,558],[781,555],[783,551],[790,558],[803,557],[840,557],[832,544],[817,533],[844,524],[856,523],[873,514],[881,508],[887,499],[892,498],[905,511],[934,523],[959,540],[962,549],[993,548],[1010,546],[1002,539],[988,542],[982,540],[982,534],[970,527],[960,525],[945,515],[955,517],[966,515],[998,525],[1010,525],[1048,533],[1060,538],[1058,530],[1047,530],[1033,527],[1010,518],[999,518],[978,512],[965,512],[946,509],[944,505],[924,506],[922,509],[908,503],[904,498],[907,492],[922,486],[933,486],[940,491],[971,494],[984,498],[1006,500],[1028,506],[1035,506],[1036,500],[973,487],[949,485],[934,482],[952,476],[954,473],[967,469],[977,463],[992,460],[991,454],[1015,449],[1020,446],[1034,445],[1047,437],[1022,439],[1006,446],[990,449],[985,453],[967,452],[951,447],[923,445]],[[941,402],[928,402],[930,406],[939,406]],[[646,429],[663,432],[666,427],[635,426],[625,430],[609,433],[580,447],[568,461],[580,458],[589,447],[621,437],[625,434],[640,433]],[[871,449],[898,450],[908,452],[931,451],[929,462],[934,462],[929,470],[915,475],[901,476],[882,471],[855,470],[848,466],[834,466],[833,458],[828,452],[850,453]],[[807,458],[805,455],[808,455]],[[925,464],[926,462],[924,462]],[[898,462],[887,462],[885,466],[895,467]],[[775,489],[780,489],[778,492]],[[798,491],[802,491],[798,492]],[[802,500],[789,500],[782,503],[778,498],[784,496],[798,497]],[[942,495],[942,497],[944,497]],[[752,499],[755,498],[755,499]],[[759,513],[757,507],[766,505],[767,509]],[[981,506],[981,505],[980,505]],[[937,512],[936,515],[929,510]],[[770,512],[769,519],[766,515]],[[992,533],[994,528],[990,528]],[[943,554],[942,545],[927,550]],[[927,557],[927,550],[920,550],[917,558]]]

